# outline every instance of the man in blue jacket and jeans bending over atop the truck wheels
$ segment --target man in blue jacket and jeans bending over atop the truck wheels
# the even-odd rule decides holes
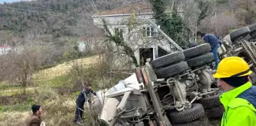
[[[214,58],[215,58],[215,68],[217,69],[218,64],[219,64],[218,49],[222,44],[221,41],[220,41],[219,36],[215,36],[212,33],[201,33],[201,32],[198,32],[198,33],[200,33],[200,36],[203,38],[203,40],[206,43],[210,43],[210,46],[211,46],[211,49],[212,49],[211,52],[213,52],[213,55],[214,55]]]

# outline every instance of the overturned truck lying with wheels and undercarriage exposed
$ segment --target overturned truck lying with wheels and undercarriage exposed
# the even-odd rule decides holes
[[[252,32],[244,27],[226,36],[219,56],[243,56],[254,68],[254,43],[246,39]],[[221,117],[222,90],[213,78],[210,49],[209,44],[202,44],[156,58],[109,90],[98,91],[92,106],[101,124],[205,126],[208,118]]]

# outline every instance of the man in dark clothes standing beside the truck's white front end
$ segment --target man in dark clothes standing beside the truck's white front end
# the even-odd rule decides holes
[[[84,90],[82,90],[81,93],[79,93],[77,99],[76,99],[76,107],[75,107],[75,124],[80,124],[80,121],[82,121],[82,113],[84,111],[84,105],[85,101],[87,100],[89,103],[91,103],[90,94],[94,94],[96,96],[96,93],[91,90],[91,84],[89,84],[87,87],[85,87]]]

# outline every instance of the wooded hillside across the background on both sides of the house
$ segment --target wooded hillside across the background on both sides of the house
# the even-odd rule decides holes
[[[14,33],[18,33],[19,36],[25,36],[30,30],[53,37],[83,36],[90,32],[80,30],[80,27],[91,28],[92,14],[97,11],[120,8],[130,2],[132,1],[38,0],[5,3],[0,6],[0,27],[2,30],[12,30]],[[172,9],[178,6],[178,8],[184,10],[184,23],[187,26],[202,27],[203,30],[210,32],[215,27],[216,31],[219,31],[219,35],[226,33],[226,30],[219,30],[219,26],[223,25],[222,20],[226,20],[226,18],[231,21],[231,24],[226,24],[226,27],[229,28],[249,25],[254,23],[255,20],[254,0],[182,0],[173,2],[163,0],[155,2],[163,2],[162,4],[166,6],[162,7],[165,8]],[[157,14],[157,11],[155,12]],[[165,14],[161,18],[165,19],[167,16]],[[166,21],[168,20],[165,20],[166,25],[172,25],[172,23]],[[212,25],[213,27],[206,27],[210,26],[208,24],[213,24],[213,22],[215,24]],[[163,24],[163,22],[159,23]],[[175,36],[173,37],[175,38]]]

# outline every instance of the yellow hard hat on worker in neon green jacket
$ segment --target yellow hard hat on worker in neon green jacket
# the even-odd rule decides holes
[[[248,63],[237,56],[231,56],[223,58],[219,62],[216,74],[213,75],[215,78],[226,78],[226,77],[242,77],[251,74],[252,71]]]

